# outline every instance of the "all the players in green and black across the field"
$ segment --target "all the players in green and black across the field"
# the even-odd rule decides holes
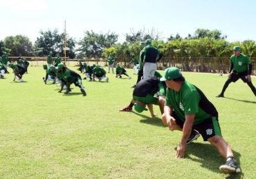
[[[186,145],[202,136],[203,140],[210,142],[217,148],[219,154],[226,158],[226,163],[219,168],[221,171],[226,173],[241,172],[230,146],[221,136],[218,112],[214,105],[208,101],[208,98],[198,87],[185,81],[179,68],[167,68],[163,77],[156,71],[156,63],[163,55],[152,45],[150,39],[140,43],[140,47],[139,61],[136,62],[133,56],[134,66],[136,66],[136,69],[138,68],[138,80],[134,85],[131,102],[120,111],[131,112],[134,107],[138,113],[149,110],[151,116],[154,117],[156,114],[154,113],[153,105],[158,105],[162,114],[163,124],[167,125],[171,131],[182,131],[182,137],[176,150],[178,158],[185,156]],[[234,54],[230,57],[230,76],[223,87],[223,92],[230,82],[235,82],[241,78],[249,85],[256,96],[255,87],[250,79],[252,69],[250,59],[241,53],[241,48],[238,46],[233,48],[233,52]],[[113,65],[113,57],[111,59],[109,70]],[[3,58],[2,63],[5,63]],[[19,63],[17,65],[9,63],[8,66],[14,70],[15,76],[19,81],[22,81],[22,75],[27,72],[29,64],[22,63],[22,59],[19,59]],[[64,63],[61,63],[61,60],[53,63],[51,55],[48,56],[47,63],[47,65],[43,65],[44,70],[46,70],[44,83],[47,81],[59,82],[61,84],[59,92],[62,92],[65,87],[65,94],[71,92],[70,86],[74,83],[75,86],[80,87],[80,91],[86,96],[80,74],[68,69]],[[0,67],[4,67],[1,64]],[[90,66],[79,61],[77,70],[85,74],[86,77],[84,79],[89,78],[89,81],[95,81],[95,78],[98,78],[98,81],[102,79],[106,82],[109,81],[106,71],[100,65],[94,64]],[[122,74],[131,78],[123,67],[116,64],[116,77],[120,76],[121,78]],[[218,97],[223,97],[223,92]]]

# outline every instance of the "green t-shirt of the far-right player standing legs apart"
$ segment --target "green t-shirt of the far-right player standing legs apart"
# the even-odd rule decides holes
[[[251,61],[245,54],[240,54],[239,56],[232,54],[232,56],[230,56],[230,63],[234,65],[233,70],[241,73],[248,71],[248,65],[250,65]]]

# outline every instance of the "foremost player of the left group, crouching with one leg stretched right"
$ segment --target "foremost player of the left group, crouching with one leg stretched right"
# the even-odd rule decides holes
[[[86,96],[84,86],[82,85],[82,78],[79,74],[72,70],[69,70],[67,67],[65,67],[63,63],[60,63],[57,66],[57,71],[60,73],[60,80],[62,81],[61,89],[59,92],[62,92],[64,85],[66,85],[65,94],[68,94],[69,92],[71,92],[71,84],[74,83],[75,86],[80,87],[80,91],[82,92],[83,96]]]

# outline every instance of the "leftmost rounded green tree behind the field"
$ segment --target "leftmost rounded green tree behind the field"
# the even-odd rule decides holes
[[[9,49],[10,56],[32,56],[33,44],[27,36],[16,35],[7,36],[4,39],[4,45],[6,49]]]

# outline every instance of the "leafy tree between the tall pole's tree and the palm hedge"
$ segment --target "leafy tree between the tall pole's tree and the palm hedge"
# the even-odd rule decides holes
[[[114,32],[97,34],[93,30],[86,30],[84,38],[78,42],[80,48],[78,48],[77,52],[80,56],[99,58],[102,56],[104,49],[115,45],[117,41],[118,35]]]

